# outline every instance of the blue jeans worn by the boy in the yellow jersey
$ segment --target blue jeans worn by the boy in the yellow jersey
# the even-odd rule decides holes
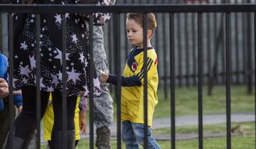
[[[160,146],[151,136],[151,129],[148,129],[148,147],[149,149],[159,149]],[[144,124],[132,123],[131,121],[122,122],[122,140],[127,149],[137,149],[144,145]]]

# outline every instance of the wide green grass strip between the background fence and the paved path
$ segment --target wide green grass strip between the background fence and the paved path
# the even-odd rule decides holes
[[[213,87],[212,96],[207,95],[207,87],[203,87],[203,114],[225,113],[225,87]],[[253,89],[254,91],[254,89]],[[156,106],[154,118],[169,117],[171,115],[171,102],[164,99],[162,89],[159,89],[159,104]],[[231,112],[249,112],[255,110],[255,92],[247,94],[245,86],[231,87]],[[175,90],[176,116],[198,114],[198,90],[197,87],[182,87]]]

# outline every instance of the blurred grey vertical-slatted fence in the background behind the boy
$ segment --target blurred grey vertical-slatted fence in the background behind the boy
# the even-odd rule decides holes
[[[119,0],[117,4],[254,4],[254,0]],[[167,67],[170,63],[168,55],[170,54],[166,48],[169,48],[169,14],[156,13],[156,19],[159,26],[156,28],[154,37],[152,38],[154,47],[159,56],[159,78],[160,87],[164,89],[165,98],[168,97],[167,84],[171,81],[171,71]],[[174,14],[174,48],[175,56],[175,76],[178,87],[195,86],[198,82],[198,67],[196,50],[197,44],[197,14],[175,13]],[[212,92],[213,85],[225,84],[225,16],[223,12],[203,13],[203,84],[208,85],[208,94]],[[253,69],[254,47],[253,39],[253,16],[250,13],[238,12],[230,13],[230,42],[231,42],[231,83],[246,84],[247,91],[252,92],[252,83],[255,79],[252,75],[255,73]],[[120,50],[122,51],[122,66],[125,63],[125,57],[132,48],[125,37],[125,15],[120,16],[121,33]],[[114,33],[113,20],[110,21],[105,28],[105,40],[107,49],[107,58],[110,64],[110,71],[115,70],[115,53],[113,52],[113,36]]]

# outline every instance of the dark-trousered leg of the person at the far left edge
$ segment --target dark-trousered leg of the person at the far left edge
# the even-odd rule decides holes
[[[13,111],[13,117],[14,119],[16,117],[16,107],[11,106],[11,109]],[[4,111],[0,111],[0,148],[4,148],[4,143],[6,142],[6,136],[8,135],[9,132],[9,127],[10,127],[10,105],[9,101],[4,102]]]

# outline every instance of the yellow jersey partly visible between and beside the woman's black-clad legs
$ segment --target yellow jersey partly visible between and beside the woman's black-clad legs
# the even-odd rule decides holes
[[[51,94],[49,100],[52,100]],[[75,140],[80,139],[80,130],[79,130],[79,107],[78,104],[80,102],[80,97],[78,96],[77,105],[75,107]],[[44,125],[44,136],[43,139],[51,140],[51,132],[53,130],[53,123],[54,123],[54,115],[53,115],[53,102],[51,101],[50,104],[47,106],[46,113],[43,116],[43,125]]]

